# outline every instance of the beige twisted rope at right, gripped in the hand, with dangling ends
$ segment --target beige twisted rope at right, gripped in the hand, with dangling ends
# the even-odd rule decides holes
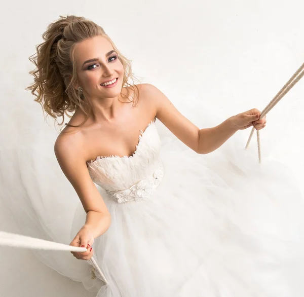
[[[270,110],[288,93],[288,91],[304,76],[304,71],[302,71],[303,69],[304,69],[304,63],[295,71],[294,75],[290,78],[290,80],[283,86],[283,88],[278,92],[278,94],[263,109],[259,117],[259,120],[264,118],[270,112]],[[297,75],[298,77],[296,77]],[[249,147],[249,143],[252,138],[254,129],[255,128],[252,127],[245,149],[248,149]],[[259,130],[256,130],[256,137],[257,137],[258,160],[259,163],[261,163],[261,146],[260,146]]]

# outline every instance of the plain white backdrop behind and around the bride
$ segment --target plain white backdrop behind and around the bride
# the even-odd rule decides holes
[[[0,135],[2,147],[10,150],[22,143],[17,139],[20,123],[25,132],[26,123],[37,129],[48,125],[41,106],[24,89],[33,78],[28,72],[34,65],[28,57],[43,41],[47,25],[60,15],[84,16],[102,26],[132,60],[134,75],[157,86],[189,120],[192,114],[186,106],[198,101],[200,108],[206,104],[225,120],[250,108],[262,110],[304,62],[302,11],[302,2],[295,0],[288,4],[274,0],[8,2],[0,20],[0,116],[8,133]],[[271,110],[261,131],[262,157],[267,150],[271,158],[289,164],[302,193],[303,93],[304,79]],[[18,108],[21,104],[31,113]],[[244,137],[245,146],[250,129],[237,133]],[[16,135],[16,141],[7,135]],[[251,145],[256,145],[255,135]],[[1,167],[1,174],[6,168]],[[3,199],[0,229],[18,233]],[[33,294],[94,295],[40,263],[30,250],[0,247],[0,295]]]

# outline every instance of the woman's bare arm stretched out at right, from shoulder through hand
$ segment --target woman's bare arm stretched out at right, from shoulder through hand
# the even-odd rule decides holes
[[[256,108],[226,119],[216,127],[199,129],[184,117],[172,102],[155,86],[142,84],[145,98],[156,108],[156,117],[184,144],[198,154],[208,154],[220,147],[238,130],[253,126],[260,130],[265,127],[265,118],[259,120]]]

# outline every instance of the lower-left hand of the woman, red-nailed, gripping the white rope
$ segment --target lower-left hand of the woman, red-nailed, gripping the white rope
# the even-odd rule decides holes
[[[86,247],[88,250],[85,252],[75,252],[71,251],[74,257],[81,260],[89,260],[93,256],[93,243],[94,237],[91,231],[87,227],[83,227],[79,230],[77,235],[71,241],[69,245],[77,247]]]

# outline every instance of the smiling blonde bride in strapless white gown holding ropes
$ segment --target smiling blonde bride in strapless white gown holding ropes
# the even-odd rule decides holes
[[[206,156],[238,130],[263,129],[260,111],[199,129],[157,87],[128,84],[129,60],[94,22],[61,17],[43,37],[28,90],[53,118],[73,112],[54,145],[81,202],[70,245],[88,250],[71,253],[94,255],[108,283],[97,273],[89,283],[87,268],[73,276],[70,260],[65,275],[100,297],[295,296],[304,209],[283,168]],[[161,141],[157,120],[176,137]]]

